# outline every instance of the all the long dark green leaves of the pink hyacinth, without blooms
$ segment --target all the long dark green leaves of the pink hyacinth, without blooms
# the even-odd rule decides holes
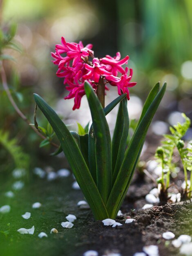
[[[165,93],[165,88],[166,83],[159,90],[157,83],[151,90],[127,149],[129,119],[124,99],[126,94],[103,109],[91,85],[85,82],[85,93],[93,124],[88,135],[78,135],[80,144],[56,112],[40,96],[34,94],[36,104],[60,140],[74,176],[97,220],[116,218],[132,180],[147,130]],[[116,132],[111,141],[105,115],[119,102],[121,103],[116,120]],[[84,130],[80,127],[79,133],[84,133]],[[116,159],[116,163],[112,164],[113,158]]]

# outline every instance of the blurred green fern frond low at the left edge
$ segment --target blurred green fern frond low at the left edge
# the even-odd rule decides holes
[[[29,168],[29,156],[18,146],[16,138],[9,139],[9,133],[0,130],[0,144],[11,155],[16,168]]]

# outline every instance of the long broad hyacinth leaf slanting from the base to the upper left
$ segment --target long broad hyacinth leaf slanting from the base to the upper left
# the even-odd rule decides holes
[[[60,140],[63,152],[76,177],[76,181],[93,211],[94,217],[96,220],[108,218],[109,215],[105,204],[73,136],[56,112],[38,94],[34,94],[34,98]]]

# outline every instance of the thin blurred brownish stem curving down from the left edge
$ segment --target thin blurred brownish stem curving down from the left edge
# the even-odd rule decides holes
[[[2,1],[0,0],[0,4],[2,3]],[[0,61],[0,77],[2,80],[2,85],[3,88],[5,90],[5,92],[7,93],[7,97],[9,98],[9,101],[11,102],[13,108],[16,110],[16,112],[18,113],[18,115],[42,138],[42,139],[46,139],[45,136],[43,136],[40,132],[38,132],[38,130],[36,130],[36,128],[34,126],[31,126],[31,122],[27,119],[27,117],[20,111],[20,109],[18,108],[16,102],[14,101],[10,91],[9,91],[9,87],[7,85],[7,77],[6,77],[6,73],[3,67],[3,62]],[[54,142],[50,141],[50,144],[55,146],[56,148],[58,148],[58,145],[55,144]]]

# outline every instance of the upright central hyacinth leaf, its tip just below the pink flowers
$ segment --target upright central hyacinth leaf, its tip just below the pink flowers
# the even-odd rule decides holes
[[[92,86],[85,82],[84,88],[91,110],[95,136],[97,187],[106,203],[112,188],[111,136],[105,113]]]

